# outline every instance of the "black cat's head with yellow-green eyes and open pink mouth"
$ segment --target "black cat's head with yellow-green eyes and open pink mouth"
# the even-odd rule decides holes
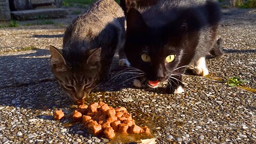
[[[172,75],[180,75],[186,35],[170,35],[166,27],[150,27],[134,9],[127,15],[125,53],[131,66],[145,73],[147,85],[157,87]],[[132,14],[131,14],[132,13]]]

